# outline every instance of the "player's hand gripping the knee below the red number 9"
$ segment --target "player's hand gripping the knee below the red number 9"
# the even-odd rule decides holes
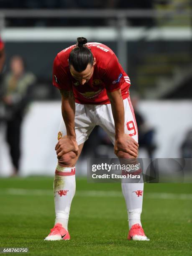
[[[138,143],[128,134],[124,134],[115,140],[114,153],[117,155],[118,151],[123,151],[133,157],[138,157]]]

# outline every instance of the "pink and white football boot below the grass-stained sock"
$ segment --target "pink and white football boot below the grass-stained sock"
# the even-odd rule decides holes
[[[70,240],[68,230],[62,227],[61,223],[56,223],[51,229],[49,235],[44,239],[45,241],[56,241],[56,240]]]

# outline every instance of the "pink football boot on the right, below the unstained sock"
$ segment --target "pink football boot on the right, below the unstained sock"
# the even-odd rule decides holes
[[[149,241],[143,231],[143,228],[139,224],[135,224],[131,227],[127,239],[134,241]]]

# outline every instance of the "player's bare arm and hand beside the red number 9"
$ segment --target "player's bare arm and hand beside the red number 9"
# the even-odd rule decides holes
[[[114,152],[115,154],[118,153],[118,151],[124,151],[126,153],[129,153],[133,157],[138,156],[138,143],[131,138],[131,136],[128,136],[125,134],[125,111],[124,111],[124,104],[123,104],[123,98],[121,96],[120,89],[113,91],[113,92],[107,92],[114,123],[115,123],[115,146],[114,146]]]

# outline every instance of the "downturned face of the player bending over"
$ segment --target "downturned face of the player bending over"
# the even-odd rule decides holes
[[[87,68],[82,72],[77,72],[74,69],[74,67],[71,65],[69,69],[72,74],[72,77],[74,77],[74,79],[77,80],[81,85],[87,83],[93,75],[95,63],[96,63],[96,60],[94,58],[93,65],[91,66],[91,64],[88,64]]]

